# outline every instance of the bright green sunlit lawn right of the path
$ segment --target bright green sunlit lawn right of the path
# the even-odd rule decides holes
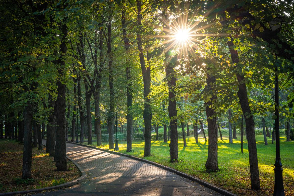
[[[208,134],[206,135],[208,137]],[[183,138],[178,140],[179,162],[169,162],[169,142],[163,140],[151,141],[150,157],[143,157],[144,141],[133,141],[133,152],[126,152],[126,141],[119,141],[121,153],[151,160],[176,170],[193,175],[197,178],[210,182],[238,195],[272,195],[274,187],[275,144],[268,138],[268,146],[264,145],[263,135],[256,135],[258,151],[258,163],[260,172],[261,190],[250,190],[250,172],[248,145],[244,136],[244,154],[241,153],[240,135],[238,139],[229,143],[228,135],[223,135],[223,141],[218,140],[218,172],[207,173],[205,162],[207,159],[208,141],[199,135],[199,143],[196,144],[194,137],[187,137],[187,147],[183,147]],[[286,195],[294,195],[294,141],[285,142],[285,136],[281,136],[281,159],[283,164],[283,180]],[[86,144],[86,142],[85,142]],[[93,142],[93,146],[96,146]],[[108,149],[108,144],[103,143],[102,148]]]

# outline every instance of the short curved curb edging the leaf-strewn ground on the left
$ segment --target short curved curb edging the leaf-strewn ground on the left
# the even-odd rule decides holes
[[[26,194],[26,193],[37,193],[37,192],[42,192],[44,190],[53,190],[53,189],[60,189],[60,188],[64,188],[64,187],[70,187],[72,185],[76,185],[79,184],[80,182],[82,182],[83,180],[86,179],[87,174],[86,172],[81,168],[80,165],[78,165],[78,163],[76,163],[74,160],[72,160],[71,158],[69,158],[68,156],[66,156],[69,160],[71,160],[71,162],[73,162],[78,169],[81,171],[82,175],[80,177],[78,177],[78,179],[76,180],[72,180],[70,182],[66,182],[64,184],[61,185],[56,185],[53,187],[45,187],[45,188],[41,188],[41,189],[32,189],[32,190],[24,190],[24,191],[16,191],[16,192],[4,192],[4,193],[0,193],[0,196],[8,196],[8,195],[16,195],[16,194]]]

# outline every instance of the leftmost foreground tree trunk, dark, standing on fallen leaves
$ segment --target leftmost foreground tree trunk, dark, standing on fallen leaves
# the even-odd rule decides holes
[[[24,154],[22,161],[22,177],[21,179],[32,178],[32,127],[33,127],[33,104],[28,101],[24,108]]]

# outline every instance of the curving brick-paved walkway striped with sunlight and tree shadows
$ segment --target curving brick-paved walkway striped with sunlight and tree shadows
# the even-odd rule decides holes
[[[46,144],[46,141],[43,140]],[[215,195],[221,194],[156,166],[121,155],[66,143],[67,156],[86,171],[81,184],[35,195]]]

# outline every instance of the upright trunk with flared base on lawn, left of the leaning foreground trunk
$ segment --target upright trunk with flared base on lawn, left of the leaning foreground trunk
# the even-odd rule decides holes
[[[209,101],[204,103],[207,127],[208,127],[208,156],[205,163],[206,171],[217,171],[218,170],[218,130],[216,126],[215,110],[213,103],[216,100],[216,95],[213,92],[213,85],[216,82],[216,78],[209,74],[209,69],[206,70],[206,88],[209,94],[212,95]],[[204,131],[203,131],[204,134]]]

